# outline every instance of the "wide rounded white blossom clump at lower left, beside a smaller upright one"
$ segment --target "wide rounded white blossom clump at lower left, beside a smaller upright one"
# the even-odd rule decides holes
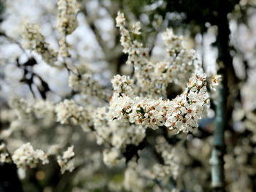
[[[48,164],[48,154],[45,154],[42,150],[34,150],[29,142],[21,145],[12,155],[12,161],[18,168],[23,169],[26,166],[36,167],[39,160],[42,161],[42,164]]]

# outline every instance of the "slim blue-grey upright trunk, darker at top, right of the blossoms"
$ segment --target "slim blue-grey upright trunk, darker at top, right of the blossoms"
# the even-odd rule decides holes
[[[229,52],[229,22],[227,14],[232,4],[228,1],[218,1],[217,10],[218,34],[216,45],[218,47],[219,74],[222,75],[222,82],[219,86],[219,98],[217,100],[216,120],[214,129],[214,142],[211,152],[211,185],[214,191],[225,191],[224,159],[225,154],[225,127],[227,126],[227,71],[233,69],[233,58]],[[229,7],[229,8],[227,8]]]

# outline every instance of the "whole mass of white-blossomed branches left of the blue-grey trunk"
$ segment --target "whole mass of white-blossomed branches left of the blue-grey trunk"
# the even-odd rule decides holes
[[[78,3],[58,0],[57,6],[58,48],[46,42],[39,25],[33,23],[23,27],[22,46],[30,51],[29,56],[41,56],[50,69],[67,70],[72,91],[59,101],[47,96],[10,97],[10,108],[1,112],[1,121],[10,123],[0,133],[1,163],[37,169],[56,162],[61,174],[80,169],[77,183],[102,166],[109,172],[121,169],[121,190],[127,191],[143,191],[156,183],[167,188],[170,180],[178,181],[191,160],[184,142],[207,115],[221,76],[206,75],[195,50],[184,47],[183,37],[170,28],[162,33],[167,56],[154,61],[150,50],[136,38],[143,34],[140,22],[129,27],[124,13],[117,12],[116,27],[132,73],[115,74],[109,83],[102,83],[83,61],[72,58],[68,37],[78,28]],[[50,90],[44,80],[41,84]],[[181,90],[173,99],[168,95],[170,85]],[[34,150],[31,144],[40,149]],[[151,156],[154,160],[148,162]],[[178,191],[175,185],[171,189]]]

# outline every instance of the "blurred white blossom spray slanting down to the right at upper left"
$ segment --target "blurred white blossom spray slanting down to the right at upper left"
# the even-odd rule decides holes
[[[54,66],[57,61],[57,54],[50,45],[45,42],[45,37],[41,34],[37,24],[27,23],[23,30],[23,47],[42,55],[42,60],[50,66]]]

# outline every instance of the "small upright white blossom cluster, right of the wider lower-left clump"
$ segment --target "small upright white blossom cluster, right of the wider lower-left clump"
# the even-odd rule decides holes
[[[73,150],[74,146],[68,147],[62,156],[57,157],[57,162],[61,167],[61,174],[64,174],[66,171],[72,172],[75,169],[74,162],[71,161],[75,156]]]

